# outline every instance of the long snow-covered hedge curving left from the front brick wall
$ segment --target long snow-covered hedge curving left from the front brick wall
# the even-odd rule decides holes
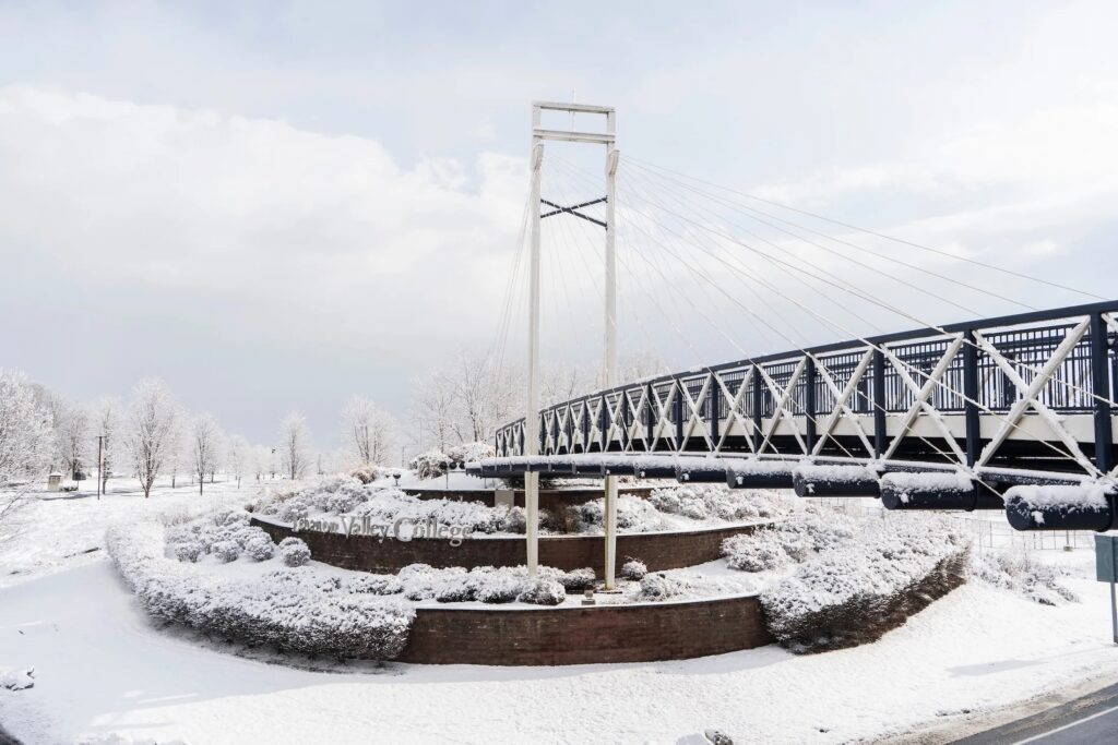
[[[124,581],[161,621],[249,646],[340,659],[392,659],[404,650],[415,619],[408,603],[352,592],[348,583],[310,567],[222,576],[169,558],[163,533],[141,523],[106,535]]]

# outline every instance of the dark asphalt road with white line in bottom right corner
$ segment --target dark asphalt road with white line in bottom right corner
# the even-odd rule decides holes
[[[1118,745],[1118,685],[954,745]]]

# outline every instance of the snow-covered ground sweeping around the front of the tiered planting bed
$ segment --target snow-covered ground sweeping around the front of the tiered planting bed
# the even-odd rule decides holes
[[[247,487],[246,487],[247,488]],[[1072,567],[1083,599],[1042,606],[970,583],[875,644],[812,657],[776,647],[646,665],[566,668],[354,665],[292,669],[152,628],[100,547],[106,524],[237,504],[228,487],[36,503],[0,545],[0,667],[36,668],[0,691],[27,743],[655,742],[888,738],[1097,679],[1118,679],[1106,585]],[[10,571],[18,574],[10,574]]]

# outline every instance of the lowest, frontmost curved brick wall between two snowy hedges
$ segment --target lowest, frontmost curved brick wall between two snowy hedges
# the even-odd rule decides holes
[[[399,661],[650,662],[723,655],[771,642],[756,595],[528,610],[419,608]]]

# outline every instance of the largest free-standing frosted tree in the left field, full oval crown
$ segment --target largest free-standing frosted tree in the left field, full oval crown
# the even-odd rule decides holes
[[[148,379],[136,385],[129,407],[124,447],[140,478],[143,496],[151,496],[155,478],[174,456],[180,410],[167,383]]]

